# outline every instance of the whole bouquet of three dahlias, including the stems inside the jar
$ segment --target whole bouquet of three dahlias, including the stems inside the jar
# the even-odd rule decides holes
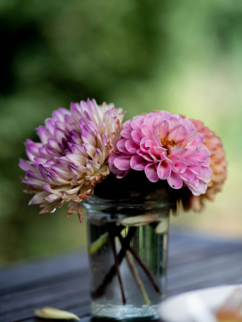
[[[78,213],[82,222],[82,201],[93,194],[126,200],[144,197],[151,191],[166,191],[174,211],[179,206],[200,211],[206,199],[214,199],[226,179],[227,166],[221,140],[214,132],[201,121],[163,110],[122,123],[124,114],[113,104],[99,106],[94,99],[54,111],[45,126],[36,129],[40,142],[25,142],[29,160],[20,159],[19,166],[26,171],[24,192],[34,194],[29,204],[40,204],[40,213],[46,213],[67,203],[66,216]],[[161,293],[151,271],[130,244],[136,226],[154,222],[157,232],[156,213],[106,223],[106,232],[92,242],[89,254],[109,240],[115,263],[92,292],[93,299],[100,298],[117,275],[126,303],[119,272],[126,256],[145,303],[150,305],[130,255],[156,293]],[[116,239],[121,245],[118,254]]]

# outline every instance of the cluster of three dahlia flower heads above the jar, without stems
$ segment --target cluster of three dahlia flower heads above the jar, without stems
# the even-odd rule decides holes
[[[96,101],[71,103],[45,120],[36,132],[41,142],[27,139],[29,161],[25,193],[40,213],[53,212],[67,203],[68,217],[110,174],[117,179],[144,171],[151,183],[165,180],[185,210],[199,211],[204,199],[214,199],[226,179],[226,161],[220,138],[201,121],[154,111],[122,124],[124,113],[113,104]],[[117,181],[118,182],[118,181]]]

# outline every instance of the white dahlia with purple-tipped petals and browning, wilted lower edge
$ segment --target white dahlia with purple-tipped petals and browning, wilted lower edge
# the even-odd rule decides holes
[[[82,220],[81,201],[109,174],[107,159],[123,117],[112,104],[98,106],[94,99],[54,111],[36,129],[41,142],[25,142],[30,161],[20,159],[25,192],[35,194],[29,204],[40,204],[40,213],[46,213],[67,202],[66,216],[78,213]]]

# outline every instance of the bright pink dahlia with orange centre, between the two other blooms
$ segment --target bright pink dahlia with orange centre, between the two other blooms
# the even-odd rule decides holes
[[[194,195],[206,192],[212,175],[210,152],[191,121],[165,111],[152,112],[126,121],[121,136],[117,152],[108,160],[117,178],[132,168],[144,170],[151,182],[167,180],[174,189],[184,183]]]

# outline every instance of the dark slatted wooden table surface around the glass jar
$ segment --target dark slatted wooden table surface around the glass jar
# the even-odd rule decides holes
[[[242,241],[172,230],[168,263],[168,297],[242,283]],[[3,268],[0,321],[51,321],[34,316],[34,309],[44,306],[68,310],[82,322],[90,321],[87,265],[86,252],[70,252]]]

